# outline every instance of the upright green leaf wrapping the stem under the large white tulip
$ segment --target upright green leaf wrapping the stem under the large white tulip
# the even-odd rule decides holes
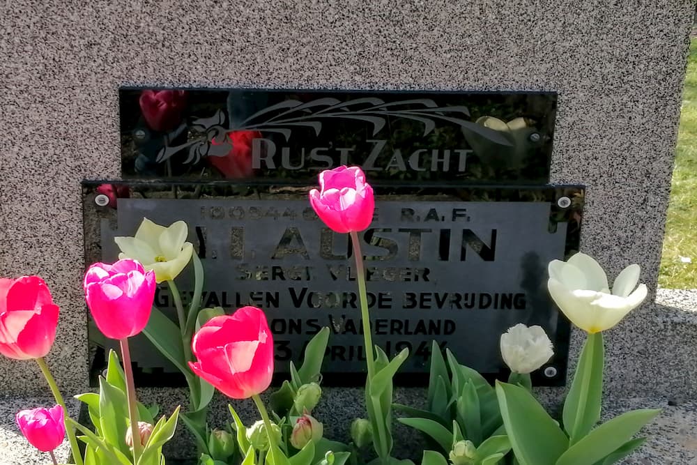
[[[603,391],[603,334],[589,334],[583,344],[579,365],[564,402],[562,420],[572,444],[588,434],[600,421]]]

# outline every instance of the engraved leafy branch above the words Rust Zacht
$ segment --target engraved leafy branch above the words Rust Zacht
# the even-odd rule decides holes
[[[348,102],[327,97],[306,103],[299,100],[284,100],[252,114],[238,127],[230,129],[224,128],[225,114],[219,109],[209,118],[193,121],[192,130],[202,133],[201,137],[186,144],[169,146],[172,138],[166,136],[157,161],[163,162],[187,148],[189,154],[185,163],[198,162],[205,156],[225,156],[232,148],[227,139],[227,134],[231,131],[276,132],[283,135],[286,141],[292,135],[292,128],[296,127],[312,128],[315,135],[319,135],[322,130],[321,120],[336,118],[372,123],[373,135],[385,127],[389,116],[411,119],[424,125],[424,137],[436,128],[436,121],[447,121],[459,125],[464,132],[474,133],[502,146],[510,146],[510,142],[500,132],[458,117],[462,115],[470,116],[467,107],[461,105],[439,107],[436,102],[428,98],[385,103],[374,97],[356,98]]]

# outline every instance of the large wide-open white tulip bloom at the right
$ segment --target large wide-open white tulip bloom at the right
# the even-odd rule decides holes
[[[641,272],[636,264],[622,270],[612,291],[603,268],[586,254],[575,254],[566,262],[553,260],[548,268],[552,299],[572,323],[590,334],[615,326],[648,292],[645,284],[636,286]]]

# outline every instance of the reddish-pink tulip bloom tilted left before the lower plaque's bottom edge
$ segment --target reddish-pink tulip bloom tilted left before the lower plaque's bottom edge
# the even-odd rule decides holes
[[[194,373],[233,399],[247,399],[268,388],[273,374],[273,336],[256,307],[214,317],[192,340],[198,359]]]

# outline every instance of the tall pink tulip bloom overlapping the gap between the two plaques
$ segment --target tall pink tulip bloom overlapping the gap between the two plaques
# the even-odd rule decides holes
[[[309,203],[325,224],[338,233],[362,231],[373,220],[373,188],[359,167],[338,167],[319,174],[320,190],[309,191]]]

